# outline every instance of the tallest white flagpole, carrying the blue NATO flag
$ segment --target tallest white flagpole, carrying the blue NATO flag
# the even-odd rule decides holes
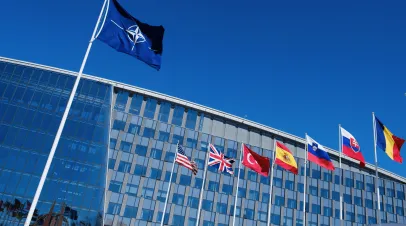
[[[67,103],[66,108],[65,108],[65,112],[63,113],[61,124],[59,124],[59,128],[58,128],[58,131],[56,133],[54,143],[52,144],[51,151],[49,152],[48,160],[47,160],[47,162],[45,164],[44,171],[42,172],[42,176],[41,176],[41,179],[39,181],[37,191],[35,192],[34,199],[32,200],[31,208],[30,208],[30,211],[28,212],[27,219],[26,219],[25,224],[24,224],[25,226],[29,226],[30,223],[31,223],[31,219],[32,219],[32,216],[34,214],[35,207],[37,206],[38,199],[39,199],[39,196],[41,195],[41,191],[42,191],[42,188],[44,186],[45,179],[46,179],[46,177],[48,175],[49,168],[51,167],[51,163],[52,163],[52,160],[54,158],[56,148],[58,147],[59,139],[61,138],[61,134],[62,134],[63,128],[65,126],[66,119],[68,118],[69,110],[70,110],[70,108],[72,106],[72,102],[73,102],[73,99],[75,97],[75,93],[76,93],[76,90],[78,88],[80,78],[82,77],[82,73],[83,73],[83,69],[85,68],[85,65],[86,65],[87,57],[89,56],[90,49],[92,48],[93,41],[96,39],[95,34],[96,34],[97,28],[99,26],[100,19],[101,19],[102,15],[103,15],[103,10],[104,10],[104,7],[106,6],[106,3],[107,3],[107,0],[104,0],[103,7],[100,10],[99,18],[97,19],[96,26],[94,27],[94,30],[93,30],[92,38],[90,39],[89,45],[87,46],[85,56],[83,57],[82,65],[80,66],[79,73],[76,76],[75,84],[73,85],[72,92],[70,93],[69,100],[68,100],[68,103]]]

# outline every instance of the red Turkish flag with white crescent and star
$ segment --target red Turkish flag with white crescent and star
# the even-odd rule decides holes
[[[251,149],[249,149],[245,144],[242,145],[244,156],[242,159],[242,164],[255,172],[268,176],[269,174],[269,158],[262,155],[258,155]]]

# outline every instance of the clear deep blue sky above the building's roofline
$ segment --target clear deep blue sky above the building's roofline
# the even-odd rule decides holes
[[[247,115],[373,163],[371,112],[406,138],[406,2],[119,0],[166,28],[161,71],[96,41],[85,73]],[[102,0],[4,1],[0,55],[78,71]],[[403,150],[406,162],[406,146]],[[380,167],[406,163],[378,150]]]

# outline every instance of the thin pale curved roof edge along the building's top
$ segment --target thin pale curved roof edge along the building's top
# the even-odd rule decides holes
[[[14,64],[20,64],[20,65],[23,65],[23,66],[35,67],[35,68],[39,68],[39,69],[43,69],[43,70],[54,71],[54,72],[57,72],[57,73],[64,73],[64,74],[68,74],[68,75],[72,75],[72,76],[77,76],[77,73],[78,73],[78,72],[74,72],[74,71],[69,71],[69,70],[65,70],[65,69],[60,69],[60,68],[56,68],[56,67],[41,65],[41,64],[22,61],[22,60],[11,59],[11,58],[2,57],[2,56],[0,56],[0,61],[4,61],[4,62],[8,62],[8,63],[14,63]],[[140,88],[140,87],[137,87],[137,86],[128,85],[128,84],[125,84],[125,83],[100,78],[100,77],[93,76],[93,75],[83,74],[83,77],[85,77],[87,79],[94,80],[94,81],[108,83],[108,84],[111,84],[112,86],[117,87],[117,88],[126,89],[126,90],[129,90],[129,91],[133,91],[133,92],[137,92],[137,93],[140,93],[140,94],[145,94],[145,95],[148,95],[148,96],[151,96],[151,97],[155,97],[155,98],[158,98],[158,99],[161,99],[161,100],[166,100],[166,101],[169,101],[169,102],[172,102],[172,103],[183,105],[183,106],[186,106],[186,107],[194,108],[194,109],[196,109],[198,111],[201,111],[201,112],[204,112],[204,113],[220,116],[220,117],[223,117],[223,118],[225,118],[227,120],[234,121],[234,122],[246,125],[248,127],[256,128],[256,129],[259,129],[259,130],[262,130],[262,131],[266,131],[268,133],[272,133],[272,134],[275,134],[275,135],[278,135],[278,136],[281,136],[281,137],[285,137],[285,138],[294,140],[294,141],[296,141],[298,143],[301,143],[303,145],[306,144],[306,140],[304,138],[301,138],[301,137],[286,133],[284,131],[272,128],[270,126],[262,125],[260,123],[250,121],[250,120],[247,120],[247,119],[244,119],[244,118],[241,118],[241,117],[238,117],[238,116],[235,116],[235,115],[223,112],[223,111],[219,111],[219,110],[209,108],[209,107],[206,107],[206,106],[203,106],[203,105],[200,105],[200,104],[196,104],[196,103],[193,103],[193,102],[190,102],[190,101],[187,101],[187,100],[183,100],[183,99],[180,99],[180,98],[177,98],[177,97],[172,97],[172,96],[169,96],[169,95],[166,95],[166,94],[162,94],[162,93],[155,92],[155,91],[152,91],[152,90]],[[339,156],[338,151],[336,151],[336,150],[334,150],[332,148],[326,147],[326,146],[324,146],[324,147],[327,149],[329,154],[332,154],[332,155],[334,155],[336,157]],[[348,158],[346,156],[341,156],[341,158],[343,158],[343,159],[345,159],[345,160],[347,160],[349,162],[353,162],[353,163],[358,164],[356,161],[354,161],[353,159]],[[373,165],[371,163],[366,163],[365,168],[370,169],[372,171],[375,171],[375,165]],[[392,172],[390,172],[388,170],[385,170],[385,169],[382,169],[382,168],[379,168],[379,167],[378,167],[378,172],[385,175],[385,176],[391,177],[391,178],[393,178],[395,180],[398,180],[398,181],[406,184],[406,178],[405,177],[399,176],[397,174],[394,174],[394,173],[392,173]]]

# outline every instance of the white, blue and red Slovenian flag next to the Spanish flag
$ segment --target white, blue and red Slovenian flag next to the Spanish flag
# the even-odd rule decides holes
[[[316,163],[317,165],[324,167],[328,170],[334,170],[333,162],[328,156],[326,149],[306,135],[307,141],[307,158],[309,161]]]

